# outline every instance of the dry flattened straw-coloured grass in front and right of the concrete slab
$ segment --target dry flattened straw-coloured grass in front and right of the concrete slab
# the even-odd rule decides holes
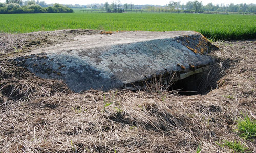
[[[256,140],[233,130],[243,114],[256,114],[255,40],[216,44],[221,50],[212,54],[221,59],[219,69],[211,69],[203,83],[219,79],[212,83],[217,88],[193,96],[77,94],[61,81],[1,61],[0,152],[196,152],[199,144],[201,152],[232,152],[216,143],[224,140],[255,152]]]

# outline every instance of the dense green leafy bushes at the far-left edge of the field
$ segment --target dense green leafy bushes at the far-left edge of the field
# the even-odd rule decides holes
[[[0,14],[12,13],[72,13],[72,9],[55,3],[48,6],[44,1],[22,1],[6,0],[6,3],[0,3]]]

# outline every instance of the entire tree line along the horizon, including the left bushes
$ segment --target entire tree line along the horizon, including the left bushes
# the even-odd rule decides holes
[[[12,5],[8,4],[15,3]],[[18,4],[18,5],[17,5]],[[30,6],[32,5],[32,6]],[[30,6],[30,7],[28,7]],[[149,11],[149,12],[184,12],[184,13],[202,13],[202,12],[238,12],[238,13],[256,13],[256,4],[217,4],[209,3],[203,5],[202,2],[197,0],[189,1],[186,4],[181,4],[179,1],[170,1],[164,6],[160,5],[134,5],[134,4],[121,4],[119,0],[113,1],[111,4],[108,2],[101,4],[88,4],[88,5],[59,5],[59,4],[46,4],[44,1],[39,0],[6,0],[6,3],[0,3],[0,13],[57,13],[57,12],[73,12],[69,8],[90,8],[100,9],[105,12],[121,13],[127,11]],[[33,10],[34,9],[34,10]]]

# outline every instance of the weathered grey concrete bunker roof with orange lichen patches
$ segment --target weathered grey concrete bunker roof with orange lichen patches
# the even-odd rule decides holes
[[[64,80],[75,92],[124,88],[153,75],[188,72],[214,62],[207,55],[211,43],[193,31],[131,31],[74,40],[14,61],[39,77]]]

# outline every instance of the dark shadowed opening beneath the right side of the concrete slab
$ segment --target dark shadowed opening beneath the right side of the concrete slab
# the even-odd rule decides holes
[[[166,72],[157,76],[155,75],[146,81],[127,84],[126,89],[130,89],[134,92],[141,89],[150,92],[167,90],[179,95],[203,95],[217,88],[218,80],[225,75],[224,70],[226,68],[227,63],[220,62],[209,67],[204,67],[202,72],[199,73],[196,73],[195,70],[194,74],[190,76],[189,74],[191,73]],[[188,77],[184,78],[186,75],[188,75]],[[184,79],[180,79],[181,77]]]

